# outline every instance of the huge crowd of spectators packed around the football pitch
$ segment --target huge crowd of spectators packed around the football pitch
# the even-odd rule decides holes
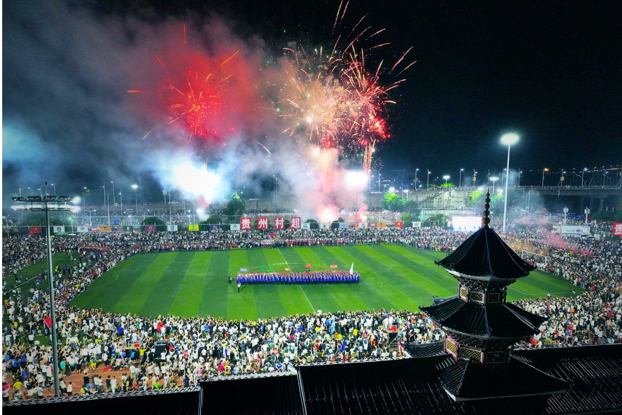
[[[71,264],[54,270],[60,343],[57,370],[65,377],[84,373],[79,384],[63,381],[61,388],[65,394],[170,388],[214,376],[287,371],[292,365],[310,361],[401,356],[398,340],[425,343],[441,339],[440,330],[424,315],[411,311],[318,310],[312,315],[238,321],[210,316],[148,318],[68,306],[99,275],[132,255],[165,250],[354,244],[406,244],[450,251],[466,237],[463,232],[436,228],[287,230],[276,231],[274,236],[262,231],[220,230],[88,232],[55,237],[53,251],[65,252]],[[539,335],[517,347],[620,341],[620,242],[560,236],[552,241],[549,232],[541,230],[512,231],[502,237],[508,244],[519,242],[546,251],[545,256],[527,259],[587,290],[576,297],[550,293],[545,298],[516,302],[549,317]],[[4,279],[3,286],[3,397],[44,396],[49,394],[53,368],[51,348],[41,344],[39,336],[50,334],[44,321],[49,317],[49,297],[39,283],[22,292],[19,269],[44,258],[45,239],[11,237],[2,245],[3,274],[15,277],[14,284]],[[45,277],[42,271],[37,279]],[[165,340],[165,347],[156,355],[153,350],[161,340]],[[96,374],[95,368],[111,373]]]

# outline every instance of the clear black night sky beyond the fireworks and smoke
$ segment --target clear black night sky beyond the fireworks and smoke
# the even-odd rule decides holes
[[[4,4],[3,47],[12,52],[5,54],[3,68],[6,126],[7,118],[29,123],[37,112],[15,105],[24,85],[12,62],[11,39],[27,25],[7,25],[22,2]],[[264,48],[278,55],[292,40],[328,44],[338,6],[339,1],[95,1],[90,12],[102,18],[133,16],[147,24],[218,15],[239,37],[259,36]],[[453,179],[460,168],[500,171],[506,147],[499,137],[510,131],[521,136],[511,167],[523,171],[620,163],[619,2],[352,0],[345,20],[356,22],[366,13],[366,24],[386,27],[382,40],[391,42],[374,52],[373,60],[392,64],[411,46],[409,59],[417,60],[395,90],[391,138],[377,153],[383,173],[429,168]],[[71,169],[76,183],[94,181],[80,165]],[[3,173],[5,187],[17,183],[15,166],[3,162]],[[538,174],[532,184],[539,183]]]

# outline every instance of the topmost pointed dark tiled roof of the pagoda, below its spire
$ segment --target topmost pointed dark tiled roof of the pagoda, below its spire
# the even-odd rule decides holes
[[[466,276],[514,280],[526,277],[536,269],[519,257],[487,224],[435,264]]]

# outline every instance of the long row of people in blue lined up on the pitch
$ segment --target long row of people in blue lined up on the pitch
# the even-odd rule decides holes
[[[239,272],[239,284],[358,284],[358,272],[305,271],[305,272]]]

